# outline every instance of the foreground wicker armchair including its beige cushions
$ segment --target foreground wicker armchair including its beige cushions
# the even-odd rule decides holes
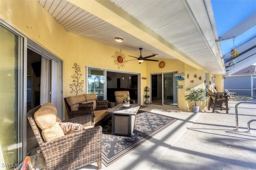
[[[93,127],[91,115],[66,121],[61,121],[56,115],[56,107],[50,103],[34,107],[27,113],[44,156],[46,169],[74,170],[94,162],[97,162],[98,169],[101,169],[102,127]],[[65,131],[62,131],[60,124],[65,123],[80,123],[83,129],[71,128],[74,131],[63,134]]]

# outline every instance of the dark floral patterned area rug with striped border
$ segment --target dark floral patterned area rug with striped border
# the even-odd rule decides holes
[[[152,138],[158,132],[171,125],[177,119],[138,111],[136,125],[131,137],[111,135],[112,120],[102,123],[102,163],[109,166],[116,160],[141,145],[147,139]]]

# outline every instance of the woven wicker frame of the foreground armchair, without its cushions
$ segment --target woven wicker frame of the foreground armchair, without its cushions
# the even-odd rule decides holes
[[[74,170],[94,162],[97,162],[98,169],[101,169],[102,127],[92,127],[44,142],[40,133],[41,129],[34,121],[34,113],[40,107],[37,106],[28,111],[27,117],[44,155],[46,169]],[[80,123],[84,126],[92,125],[91,115],[80,116],[63,122]]]

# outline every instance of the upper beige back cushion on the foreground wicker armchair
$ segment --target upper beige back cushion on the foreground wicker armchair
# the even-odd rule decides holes
[[[54,106],[55,107],[55,106]],[[34,120],[40,129],[44,130],[52,127],[56,123],[56,110],[49,107],[48,104],[41,106],[36,113],[34,113]]]

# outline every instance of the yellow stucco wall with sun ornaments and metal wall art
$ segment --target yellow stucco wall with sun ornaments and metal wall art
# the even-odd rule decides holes
[[[118,70],[118,66],[114,64],[114,59],[111,56],[115,55],[115,52],[120,51],[120,49],[67,32],[36,0],[1,0],[0,9],[2,20],[62,59],[63,97],[72,95],[70,94],[69,84],[72,83],[71,75],[74,73],[72,68],[74,63],[81,66],[82,80],[85,80],[85,66]],[[127,55],[138,55],[128,51],[122,51],[122,53],[126,57]],[[128,57],[126,59],[128,60]],[[146,81],[141,80],[140,94],[142,102],[143,89],[145,86],[150,86],[149,77],[151,73],[184,72],[185,81],[178,82],[178,85],[183,85],[182,89],[178,89],[178,104],[180,109],[188,110],[192,104],[187,104],[184,100],[185,90],[192,87],[203,87],[204,70],[196,70],[178,60],[162,60],[166,62],[166,67],[163,69],[158,67],[157,62],[144,62],[138,65],[136,61],[129,61],[123,68],[120,67],[120,70],[140,73],[141,77],[145,76],[147,78]],[[186,78],[187,74],[190,74],[190,78]],[[194,74],[197,74],[198,77],[202,76],[202,80],[193,79]],[[190,82],[192,79],[194,83]],[[79,92],[79,94],[83,93],[84,91]],[[200,107],[200,109],[202,108]]]

